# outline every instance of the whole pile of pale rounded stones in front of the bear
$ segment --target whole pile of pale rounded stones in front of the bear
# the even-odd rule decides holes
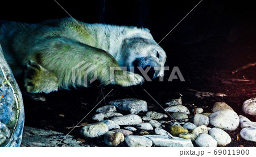
[[[107,146],[210,147],[226,146],[232,142],[228,133],[241,127],[241,137],[256,142],[256,122],[243,115],[238,116],[225,102],[216,102],[212,113],[204,113],[203,108],[189,111],[182,105],[181,98],[166,105],[168,107],[158,113],[148,111],[147,102],[143,100],[127,98],[110,101],[109,105],[96,110],[92,119],[97,122],[82,127],[80,132],[85,138],[104,136]],[[253,113],[248,106],[255,106],[246,106]],[[128,114],[123,115],[117,110]]]

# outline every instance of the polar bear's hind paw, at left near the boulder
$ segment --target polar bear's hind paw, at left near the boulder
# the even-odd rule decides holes
[[[55,73],[48,71],[34,61],[28,61],[24,71],[24,88],[29,93],[50,93],[58,90],[59,80]]]

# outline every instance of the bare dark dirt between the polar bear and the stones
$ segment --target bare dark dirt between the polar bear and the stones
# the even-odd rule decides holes
[[[232,71],[256,61],[256,45],[252,38],[230,43],[222,38],[214,37],[191,45],[165,41],[160,46],[168,52],[167,65],[171,69],[174,66],[179,67],[185,82],[179,80],[167,82],[170,72],[166,72],[164,82],[156,79],[141,86],[129,88],[98,86],[79,90],[61,90],[42,94],[46,98],[45,102],[37,102],[24,96],[25,125],[68,133],[70,129],[66,127],[75,126],[111,89],[114,89],[113,92],[97,108],[107,105],[111,100],[139,98],[147,101],[148,110],[164,113],[163,109],[144,92],[143,89],[145,89],[162,106],[172,98],[179,98],[181,94],[183,104],[189,109],[201,107],[204,112],[210,112],[214,102],[224,101],[238,115],[245,115],[242,112],[243,101],[256,97],[256,67],[243,70],[236,75],[232,75]],[[227,96],[200,99],[195,97],[196,92],[188,89],[224,93]],[[82,123],[93,123],[93,114],[95,114],[95,109]],[[256,121],[256,117],[245,116],[251,121]],[[79,134],[79,129],[73,130],[71,135],[92,146],[105,146],[102,137],[93,140],[85,139]],[[256,146],[255,142],[242,139],[239,135],[240,130],[229,133],[232,143],[228,146]],[[139,131],[135,134],[139,134]]]

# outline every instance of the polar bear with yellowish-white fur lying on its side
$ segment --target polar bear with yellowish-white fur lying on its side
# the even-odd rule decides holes
[[[14,76],[23,73],[24,87],[30,93],[78,86],[72,68],[83,62],[96,67],[86,73],[87,80],[97,72],[104,85],[142,84],[141,75],[129,72],[134,65],[160,67],[154,77],[164,75],[166,53],[146,28],[88,24],[72,18],[36,24],[5,22],[0,43]],[[109,77],[110,67],[115,67],[113,78]],[[127,72],[121,67],[127,67]],[[75,79],[84,75],[76,74]]]

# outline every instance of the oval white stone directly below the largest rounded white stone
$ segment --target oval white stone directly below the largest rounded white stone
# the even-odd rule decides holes
[[[232,141],[228,133],[217,127],[210,129],[209,135],[217,141],[219,146],[226,146]]]

